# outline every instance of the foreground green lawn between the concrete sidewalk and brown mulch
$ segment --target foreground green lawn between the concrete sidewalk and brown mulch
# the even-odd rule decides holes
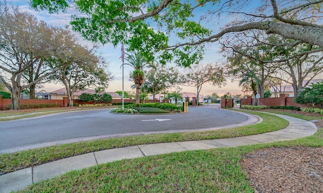
[[[270,147],[322,147],[315,135],[268,144],[185,151],[100,164],[44,180],[18,192],[254,192],[239,161]]]

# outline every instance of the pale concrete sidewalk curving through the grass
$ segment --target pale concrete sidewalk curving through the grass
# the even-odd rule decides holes
[[[19,189],[24,189],[30,184],[64,174],[71,170],[80,170],[85,167],[90,167],[106,162],[113,162],[121,159],[133,159],[138,157],[188,150],[236,147],[241,145],[293,140],[311,136],[317,132],[317,127],[312,122],[286,115],[275,115],[288,120],[289,125],[283,130],[254,136],[217,140],[138,145],[74,156],[18,170],[5,175],[0,175],[0,192],[10,192],[12,190],[16,191]]]

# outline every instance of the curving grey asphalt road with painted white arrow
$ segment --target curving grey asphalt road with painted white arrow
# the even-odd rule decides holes
[[[64,112],[0,122],[0,153],[91,139],[214,128],[247,120],[244,114],[214,106],[162,115],[114,114],[109,109]]]

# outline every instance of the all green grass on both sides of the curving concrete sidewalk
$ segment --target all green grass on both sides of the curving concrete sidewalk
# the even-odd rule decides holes
[[[248,112],[261,116],[263,121],[227,130],[96,140],[4,154],[0,156],[0,166],[2,172],[10,172],[19,167],[102,149],[247,136],[280,130],[288,124],[274,115]],[[245,153],[264,147],[290,146],[322,147],[323,130],[293,141],[185,151],[101,164],[44,180],[18,192],[254,192],[239,160]]]

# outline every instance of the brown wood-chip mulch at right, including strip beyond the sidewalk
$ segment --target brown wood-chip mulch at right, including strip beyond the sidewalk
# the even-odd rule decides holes
[[[283,110],[288,112],[289,110]],[[290,111],[308,116],[322,114]],[[315,125],[323,127],[323,119]],[[250,152],[240,160],[256,193],[323,192],[323,148],[265,148]]]

